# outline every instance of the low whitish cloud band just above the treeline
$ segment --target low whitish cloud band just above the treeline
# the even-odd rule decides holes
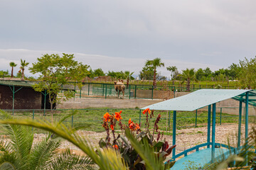
[[[32,66],[33,62],[36,62],[38,57],[41,57],[44,54],[59,54],[63,52],[58,51],[47,51],[47,50],[26,50],[26,49],[0,49],[0,67],[3,70],[9,69],[9,62],[16,62],[18,67],[20,67],[20,59],[26,60],[30,64],[28,67]],[[106,55],[89,55],[83,54],[80,52],[64,52],[68,54],[74,54],[75,60],[82,62],[83,64],[88,64],[92,69],[102,68],[104,72],[108,71],[131,71],[134,72],[134,75],[138,75],[139,72],[144,67],[146,58],[126,58],[126,57],[112,57]],[[186,68],[206,68],[210,67],[212,70],[219,69],[220,67],[213,64],[203,64],[196,62],[183,62],[181,60],[168,60],[162,59],[166,67],[176,66],[179,70]],[[158,68],[158,72],[161,72],[161,75],[169,77],[170,72],[166,70],[166,67]],[[18,72],[18,68],[14,68],[14,72]],[[25,72],[28,76],[32,76],[31,73],[26,69]]]

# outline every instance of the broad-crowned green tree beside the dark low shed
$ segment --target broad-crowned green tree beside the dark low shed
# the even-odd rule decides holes
[[[70,89],[64,91],[63,97],[57,97],[62,86],[68,84],[68,81],[70,80],[75,79],[81,81],[81,79],[88,74],[88,72],[85,71],[86,68],[87,65],[82,65],[74,60],[74,55],[63,53],[63,57],[60,57],[58,54],[46,54],[41,58],[37,58],[37,62],[33,63],[29,70],[33,74],[39,74],[39,79],[41,81],[38,84],[33,85],[33,88],[36,91],[47,91],[50,110],[53,111],[54,103],[57,106],[62,99],[65,101],[73,97],[73,91]]]

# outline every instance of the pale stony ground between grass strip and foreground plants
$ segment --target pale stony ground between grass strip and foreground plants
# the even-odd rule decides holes
[[[250,128],[252,128],[252,125],[249,125],[249,132]],[[242,143],[245,141],[245,125],[242,125],[241,128],[241,138]],[[78,130],[78,134],[80,136],[85,137],[90,141],[90,144],[93,147],[99,147],[98,142],[101,138],[106,137],[106,132],[91,132],[91,131],[85,131],[85,130]],[[188,128],[188,129],[182,129],[182,130],[176,130],[176,154],[183,152],[183,150],[191,148],[193,146],[206,143],[207,141],[207,127],[201,127],[201,128]],[[45,135],[43,134],[35,134],[34,135],[34,142],[38,141]],[[230,141],[231,146],[237,145],[237,136],[238,136],[238,125],[216,125],[215,130],[215,142],[222,143],[222,144],[228,144],[228,139]],[[172,135],[164,135],[164,138],[166,138],[167,141],[169,141],[169,144],[172,144]],[[164,140],[164,139],[163,139]],[[67,141],[63,141],[61,148],[65,149],[66,147],[70,147],[70,149],[73,149],[73,152],[78,154],[81,153],[80,150],[70,144]]]

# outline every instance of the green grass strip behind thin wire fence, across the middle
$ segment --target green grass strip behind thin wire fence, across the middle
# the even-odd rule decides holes
[[[227,125],[230,123],[238,124],[238,115],[231,115],[225,113],[226,109],[233,108],[217,108],[216,124]],[[243,109],[245,110],[245,109]],[[117,109],[117,108],[87,108],[87,109],[58,109],[58,110],[6,110],[6,113],[13,115],[17,119],[32,119],[43,121],[59,121],[63,117],[70,115],[64,120],[64,124],[70,127],[85,127],[82,130],[102,132],[102,118],[105,113],[115,113],[122,111],[122,123],[128,125],[129,118],[134,123],[141,124],[144,128],[146,116],[142,110],[138,109]],[[161,114],[159,128],[166,132],[172,132],[173,125],[173,112],[172,111],[154,111],[154,117],[149,116],[149,127],[154,127],[154,121],[158,114]],[[177,128],[196,128],[207,125],[208,112],[207,111],[191,111],[191,112],[178,112],[176,115]],[[255,123],[255,116],[249,116],[250,123]],[[242,123],[245,122],[245,111],[242,113]],[[0,130],[1,131],[1,130]],[[42,132],[38,130],[36,132]]]

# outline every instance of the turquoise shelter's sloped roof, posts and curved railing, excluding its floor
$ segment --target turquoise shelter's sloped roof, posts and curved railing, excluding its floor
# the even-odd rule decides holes
[[[208,106],[208,132],[207,132],[207,142],[202,145],[197,145],[192,149],[186,149],[180,154],[176,154],[175,148],[173,150],[172,159],[176,159],[184,154],[186,157],[188,152],[193,149],[199,150],[199,147],[210,148],[211,146],[211,162],[215,159],[215,147],[228,147],[223,144],[215,143],[215,113],[216,113],[216,103],[224,101],[228,98],[233,98],[240,102],[239,106],[239,122],[238,122],[238,147],[240,147],[240,134],[241,134],[241,120],[242,120],[242,102],[245,103],[245,140],[248,137],[248,105],[256,106],[256,93],[252,90],[232,90],[232,89],[201,89],[194,91],[191,94],[180,96],[178,98],[171,98],[167,101],[162,101],[159,103],[146,106],[145,108],[150,108],[151,110],[161,110],[161,111],[174,111],[173,117],[173,145],[176,145],[176,111],[195,111],[199,108]],[[211,121],[212,120],[212,121]],[[210,123],[212,123],[211,137],[210,141]]]

